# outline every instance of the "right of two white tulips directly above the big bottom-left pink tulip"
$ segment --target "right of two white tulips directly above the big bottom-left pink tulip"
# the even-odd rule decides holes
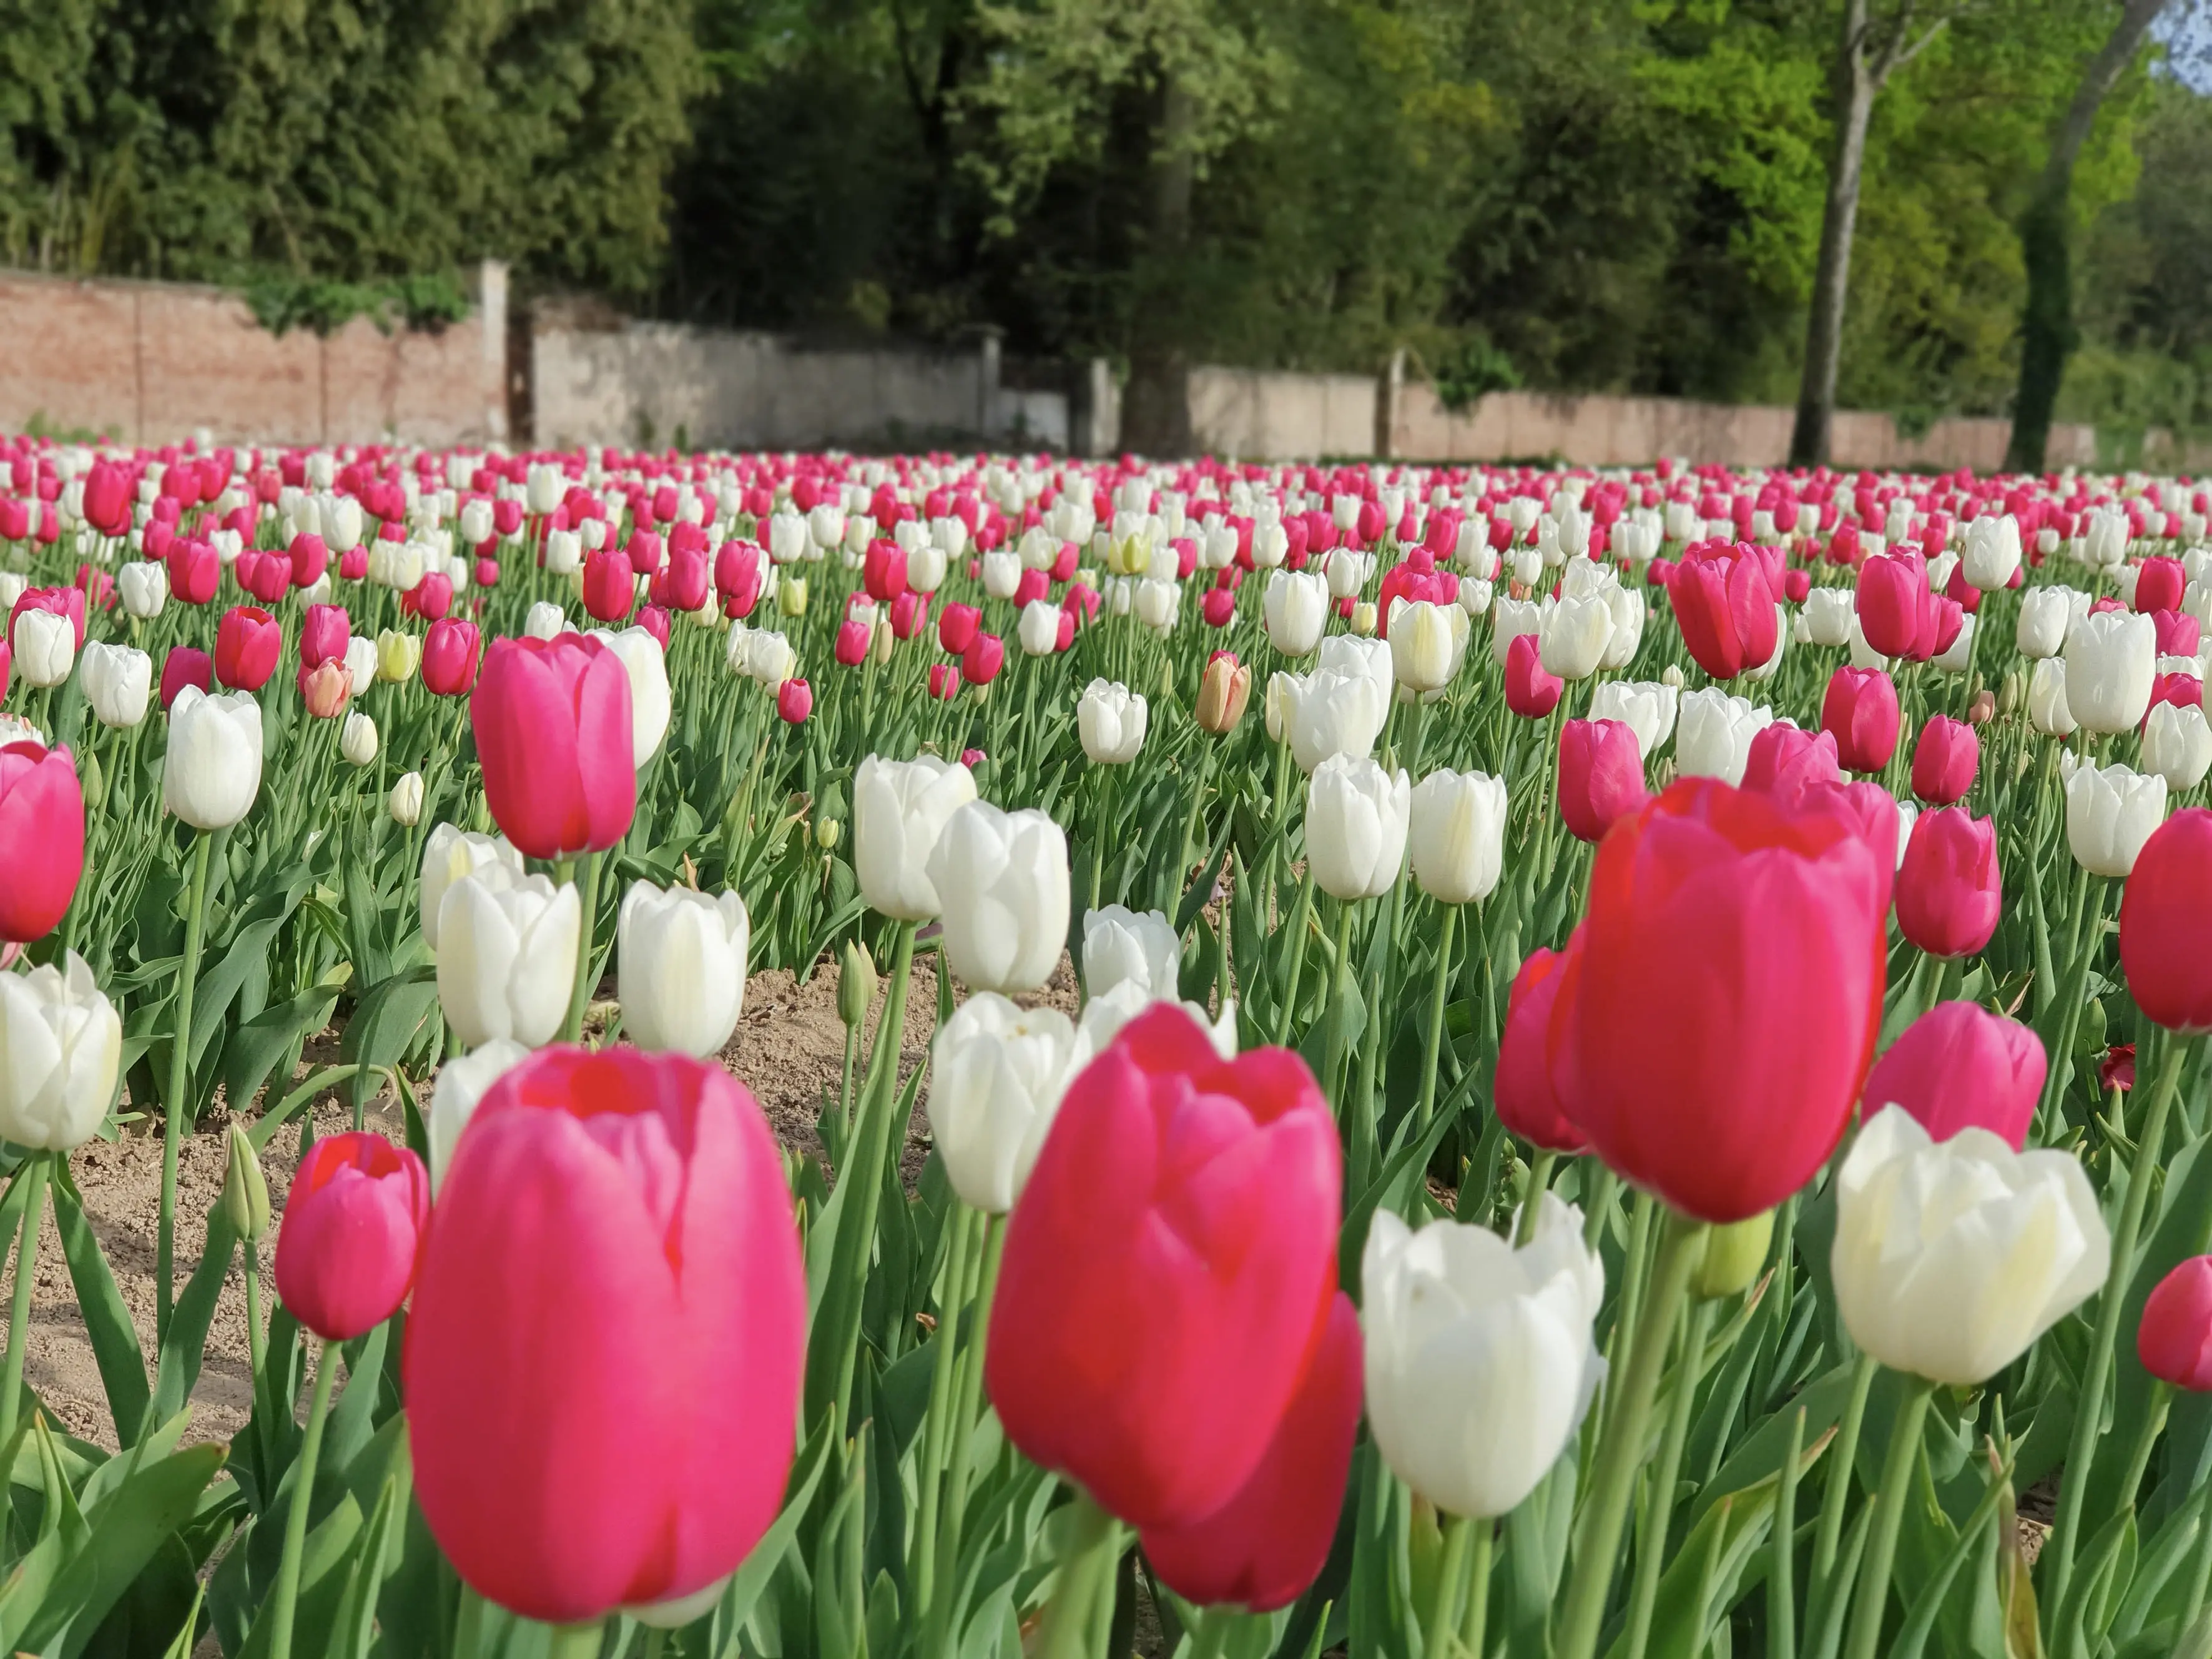
[[[622,1029],[639,1048],[710,1060],[745,1011],[752,922],[734,891],[630,885],[622,896],[615,960]]]

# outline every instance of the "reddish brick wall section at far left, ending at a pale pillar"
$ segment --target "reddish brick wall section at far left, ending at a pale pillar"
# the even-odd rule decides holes
[[[221,288],[0,272],[0,429],[487,442],[507,431],[504,268],[484,268],[480,301],[438,332],[387,336],[356,316],[330,338],[279,338]]]

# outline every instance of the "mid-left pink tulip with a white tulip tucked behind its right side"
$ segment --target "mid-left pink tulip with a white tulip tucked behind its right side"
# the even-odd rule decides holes
[[[606,852],[637,816],[630,675],[588,635],[495,639],[469,699],[493,821],[529,858]]]

